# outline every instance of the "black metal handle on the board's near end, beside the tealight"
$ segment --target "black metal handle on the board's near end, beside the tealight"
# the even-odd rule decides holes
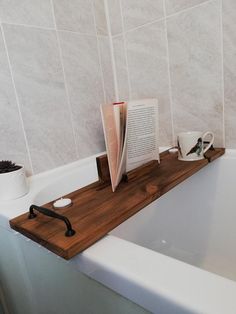
[[[67,227],[67,230],[65,233],[66,237],[72,237],[75,234],[75,230],[72,229],[71,223],[67,217],[59,215],[59,214],[55,213],[54,211],[52,211],[48,208],[45,208],[45,207],[39,207],[36,205],[31,205],[29,208],[29,216],[28,216],[29,219],[34,219],[35,217],[37,217],[37,215],[34,212],[34,209],[43,215],[64,221],[64,223],[66,224],[66,227]]]

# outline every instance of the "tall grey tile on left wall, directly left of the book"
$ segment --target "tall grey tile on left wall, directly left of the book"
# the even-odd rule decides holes
[[[92,36],[60,32],[79,157],[105,150],[100,115],[104,103],[97,42]]]

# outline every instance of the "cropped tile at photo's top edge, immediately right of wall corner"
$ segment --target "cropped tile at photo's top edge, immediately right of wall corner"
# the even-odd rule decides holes
[[[121,0],[125,31],[164,17],[163,0]]]

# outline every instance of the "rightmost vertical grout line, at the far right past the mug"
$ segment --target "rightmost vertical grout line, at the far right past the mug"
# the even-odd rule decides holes
[[[224,75],[224,31],[223,31],[223,2],[220,1],[220,37],[221,37],[221,66],[222,66],[222,135],[223,135],[223,147],[226,146],[225,135],[225,75]]]

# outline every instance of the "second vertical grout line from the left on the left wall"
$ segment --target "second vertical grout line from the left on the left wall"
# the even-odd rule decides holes
[[[53,0],[50,0],[50,3],[51,3],[52,15],[53,15],[53,20],[54,20],[55,29],[56,29],[56,27],[57,27],[56,25],[57,24],[56,24],[55,12],[54,12]],[[71,127],[72,127],[74,144],[75,144],[75,152],[76,152],[77,158],[79,158],[79,149],[77,147],[77,142],[76,142],[75,123],[74,123],[74,119],[73,119],[72,106],[71,106],[70,95],[69,95],[69,90],[68,90],[68,85],[67,85],[67,80],[66,80],[65,67],[64,67],[64,63],[63,63],[61,42],[60,42],[60,38],[59,38],[59,34],[58,34],[57,30],[56,30],[56,39],[57,39],[60,63],[61,63],[61,67],[62,67],[62,75],[63,75],[63,80],[64,80],[64,86],[65,86],[65,92],[66,92],[66,98],[67,98],[67,105],[69,107],[69,112],[70,112],[70,120],[71,120]]]

